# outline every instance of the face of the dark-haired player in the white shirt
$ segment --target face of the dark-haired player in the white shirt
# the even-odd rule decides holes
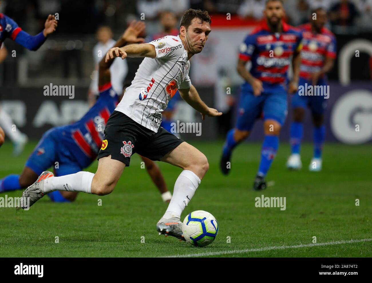
[[[201,19],[193,19],[191,25],[185,32],[185,39],[189,51],[193,54],[202,52],[204,44],[208,39],[208,35],[211,32],[211,26],[209,25],[209,23],[201,22]]]

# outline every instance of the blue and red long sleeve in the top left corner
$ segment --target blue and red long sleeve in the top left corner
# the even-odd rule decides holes
[[[22,30],[17,23],[10,17],[1,14],[1,17],[4,18],[6,25],[4,32],[7,37],[17,42],[18,44],[26,47],[29,50],[35,51],[45,42],[47,39],[43,32],[38,33],[35,36],[29,35],[27,32]]]

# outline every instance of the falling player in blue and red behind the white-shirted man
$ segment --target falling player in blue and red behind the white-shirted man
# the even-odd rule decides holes
[[[115,46],[143,39],[137,35],[144,29],[143,22],[131,23]],[[28,158],[22,174],[12,174],[0,180],[0,192],[22,189],[33,184],[38,176],[50,166],[55,167],[56,176],[73,174],[88,167],[96,158],[102,144],[103,129],[110,113],[118,104],[118,94],[111,85],[110,65],[102,58],[99,73],[100,96],[94,106],[76,123],[52,128],[47,131]],[[169,202],[171,193],[154,161],[142,158],[151,179],[162,193],[164,202]],[[73,201],[77,192],[55,191],[48,194],[52,201]]]

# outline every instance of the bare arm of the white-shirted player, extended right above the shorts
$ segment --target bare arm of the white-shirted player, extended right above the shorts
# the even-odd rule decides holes
[[[221,116],[222,112],[218,112],[218,110],[209,108],[203,100],[201,100],[198,91],[196,91],[193,85],[190,86],[189,89],[178,89],[180,96],[193,107],[196,111],[199,111],[202,115],[202,119],[205,119],[205,116]]]

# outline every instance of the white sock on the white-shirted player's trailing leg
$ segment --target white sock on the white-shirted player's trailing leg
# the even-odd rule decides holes
[[[80,171],[75,174],[50,177],[44,181],[44,193],[50,193],[55,190],[67,192],[83,192],[91,194],[91,185],[93,180],[93,173]]]

